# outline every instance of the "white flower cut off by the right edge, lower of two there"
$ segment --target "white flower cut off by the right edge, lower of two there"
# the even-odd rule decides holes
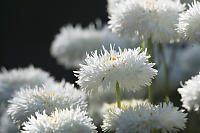
[[[178,92],[181,94],[184,108],[198,111],[200,108],[200,73],[186,81]]]

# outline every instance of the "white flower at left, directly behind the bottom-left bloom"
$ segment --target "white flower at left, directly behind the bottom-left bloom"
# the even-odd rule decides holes
[[[35,112],[46,111],[50,114],[55,108],[64,109],[80,106],[85,109],[86,95],[70,83],[44,85],[43,87],[25,88],[16,92],[9,100],[8,113],[15,123],[21,125]]]

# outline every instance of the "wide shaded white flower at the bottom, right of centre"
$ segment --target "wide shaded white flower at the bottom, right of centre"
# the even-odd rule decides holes
[[[105,115],[103,130],[115,130],[116,133],[150,133],[159,130],[162,133],[176,132],[185,128],[186,115],[172,103],[153,106],[140,103],[134,107],[109,110]]]

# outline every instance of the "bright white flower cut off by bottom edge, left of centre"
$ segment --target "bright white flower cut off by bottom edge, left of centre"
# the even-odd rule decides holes
[[[77,109],[56,110],[51,116],[45,112],[31,116],[24,123],[22,133],[96,133],[92,119],[85,111]]]

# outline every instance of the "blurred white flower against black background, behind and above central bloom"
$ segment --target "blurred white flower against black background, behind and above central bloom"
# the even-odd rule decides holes
[[[78,67],[85,59],[85,53],[101,49],[102,45],[109,48],[113,43],[122,48],[134,47],[137,40],[130,40],[128,37],[118,37],[108,30],[107,26],[96,29],[94,25],[82,28],[77,25],[68,25],[61,28],[52,43],[50,52],[58,63],[66,68]]]

